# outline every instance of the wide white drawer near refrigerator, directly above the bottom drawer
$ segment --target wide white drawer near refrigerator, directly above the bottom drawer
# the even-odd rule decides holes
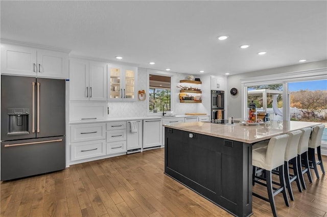
[[[71,125],[71,142],[106,139],[105,123]]]

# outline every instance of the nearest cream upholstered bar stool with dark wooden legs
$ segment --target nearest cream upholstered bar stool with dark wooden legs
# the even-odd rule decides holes
[[[284,177],[285,144],[287,144],[289,137],[288,134],[278,135],[271,138],[266,147],[252,150],[252,166],[254,168],[264,169],[266,175],[266,178],[264,178],[254,174],[252,175],[252,181],[267,187],[268,199],[256,193],[252,193],[252,195],[269,202],[274,216],[277,216],[274,200],[275,195],[282,192],[285,204],[289,206]],[[279,170],[279,183],[273,182],[271,179],[272,170],[275,168]],[[255,180],[255,178],[259,178],[260,180]],[[261,182],[261,180],[265,180],[266,183]],[[273,183],[278,184],[279,188],[273,187]]]

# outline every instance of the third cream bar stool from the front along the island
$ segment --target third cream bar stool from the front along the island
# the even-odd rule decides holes
[[[306,127],[300,130],[302,131],[302,135],[297,149],[297,170],[299,173],[302,188],[307,189],[303,174],[307,173],[309,181],[310,183],[312,183],[312,176],[310,173],[309,160],[308,160],[308,145],[309,145],[309,139],[312,129],[310,127]],[[303,169],[303,167],[305,169]]]

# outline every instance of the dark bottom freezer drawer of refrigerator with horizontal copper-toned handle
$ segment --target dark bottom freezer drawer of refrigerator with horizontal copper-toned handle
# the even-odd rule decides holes
[[[65,137],[1,143],[1,180],[65,169]]]

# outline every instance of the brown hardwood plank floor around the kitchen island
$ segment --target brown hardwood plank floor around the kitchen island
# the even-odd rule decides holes
[[[164,174],[164,149],[72,165],[50,174],[1,182],[1,216],[232,216]],[[327,156],[323,156],[327,167]],[[321,170],[319,170],[321,174]],[[297,191],[290,207],[275,197],[279,216],[327,216],[327,175]],[[264,186],[254,189],[266,193]],[[271,216],[253,197],[253,216]]]

